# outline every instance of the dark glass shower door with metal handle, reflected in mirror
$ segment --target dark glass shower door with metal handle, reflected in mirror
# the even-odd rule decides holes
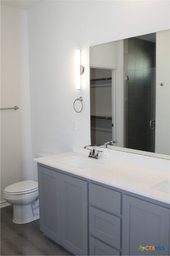
[[[126,147],[155,152],[155,68],[126,70]]]

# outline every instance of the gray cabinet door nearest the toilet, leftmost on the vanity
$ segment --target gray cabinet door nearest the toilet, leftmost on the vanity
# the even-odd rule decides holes
[[[40,229],[56,242],[61,242],[60,174],[38,167]]]

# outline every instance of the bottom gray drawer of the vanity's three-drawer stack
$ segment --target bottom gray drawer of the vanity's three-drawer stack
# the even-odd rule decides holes
[[[94,237],[89,237],[89,255],[120,255],[121,252],[113,247],[102,243]]]

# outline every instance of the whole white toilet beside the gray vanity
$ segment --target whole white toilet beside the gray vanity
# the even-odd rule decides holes
[[[42,151],[35,157],[53,155],[54,153]],[[38,182],[25,180],[9,185],[4,189],[4,199],[14,205],[13,222],[27,223],[39,219],[39,190]]]

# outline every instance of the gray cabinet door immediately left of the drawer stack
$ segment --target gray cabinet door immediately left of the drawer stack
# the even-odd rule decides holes
[[[88,255],[87,182],[60,175],[61,242],[75,255]]]

